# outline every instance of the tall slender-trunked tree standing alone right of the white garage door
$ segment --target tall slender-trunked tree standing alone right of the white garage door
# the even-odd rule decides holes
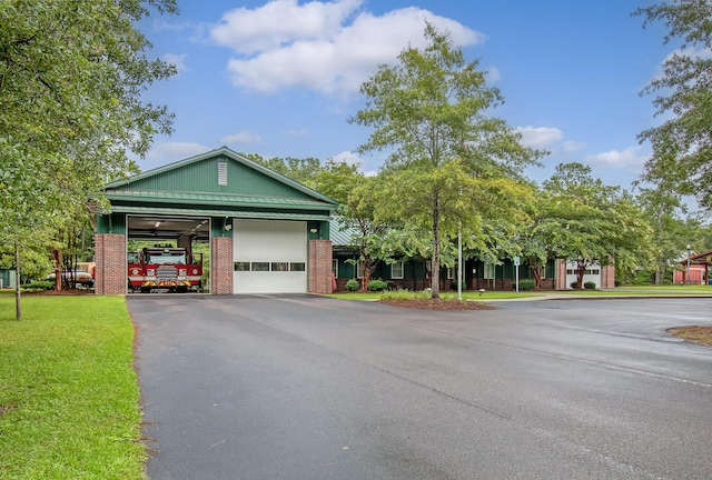
[[[429,23],[425,37],[431,43],[424,50],[403,50],[398,64],[382,66],[362,84],[366,107],[349,121],[375,129],[359,152],[388,150],[384,168],[388,178],[400,176],[398,184],[417,182],[417,189],[411,188],[408,193],[395,191],[389,207],[417,207],[412,212],[400,211],[406,222],[418,226],[427,216],[433,246],[432,296],[437,298],[441,228],[444,222],[451,230],[465,226],[461,216],[468,211],[459,196],[467,188],[451,180],[517,176],[542,152],[524,148],[520,136],[503,120],[486,116],[502,103],[502,97],[487,86],[477,61],[467,63],[449,36]],[[456,169],[451,176],[453,166]],[[463,171],[466,176],[459,174]]]

